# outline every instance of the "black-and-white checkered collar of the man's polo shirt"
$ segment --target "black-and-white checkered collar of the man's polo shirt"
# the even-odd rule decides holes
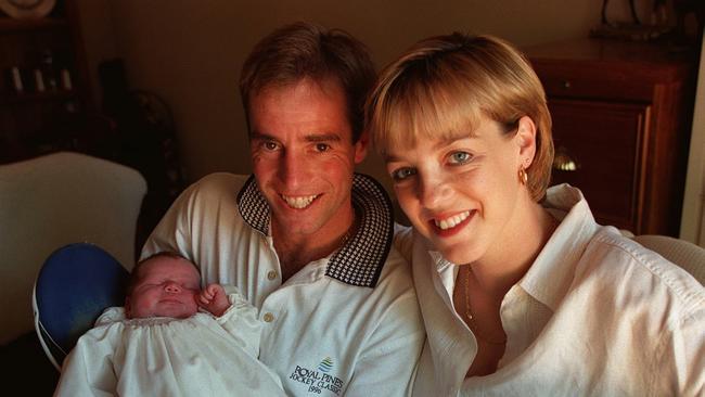
[[[355,235],[331,256],[325,276],[350,285],[374,287],[392,246],[392,202],[376,180],[355,174],[352,205],[356,214],[361,216],[359,227]],[[238,194],[238,206],[243,219],[253,229],[267,235],[269,205],[257,188],[254,176],[247,179]]]

